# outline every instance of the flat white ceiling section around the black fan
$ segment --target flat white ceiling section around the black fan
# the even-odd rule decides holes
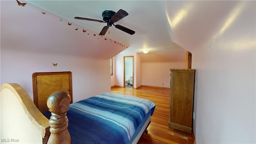
[[[74,17],[102,20],[104,10],[117,12],[122,9],[129,15],[115,24],[130,28],[135,31],[135,34],[127,34],[112,26],[109,29],[110,34],[107,32],[105,36],[127,45],[128,48],[124,50],[124,53],[137,53],[144,49],[148,49],[150,52],[184,50],[172,42],[162,0],[26,0],[26,2],[88,28],[97,34],[100,33],[103,26],[106,26],[106,23],[76,20]]]

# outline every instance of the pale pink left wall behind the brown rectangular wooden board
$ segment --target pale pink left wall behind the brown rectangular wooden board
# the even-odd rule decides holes
[[[53,66],[52,63],[58,63]],[[1,47],[1,85],[20,84],[33,100],[34,72],[72,72],[73,102],[110,92],[109,59],[12,51]]]

